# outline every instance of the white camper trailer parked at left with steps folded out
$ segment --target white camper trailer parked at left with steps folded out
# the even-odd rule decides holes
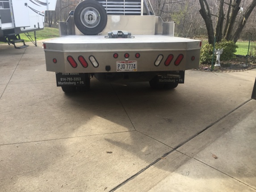
[[[45,11],[55,10],[55,5],[56,0],[0,0],[0,42],[27,47],[19,34],[43,29]]]

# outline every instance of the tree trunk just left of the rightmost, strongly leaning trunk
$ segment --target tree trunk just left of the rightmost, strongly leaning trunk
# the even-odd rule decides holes
[[[225,39],[227,39],[227,41],[232,39],[232,30],[235,24],[235,18],[237,16],[237,13],[240,9],[239,5],[241,3],[241,0],[236,0],[234,4],[232,4],[232,10],[231,10],[231,15],[230,15],[230,21],[227,27],[227,33],[225,35]]]

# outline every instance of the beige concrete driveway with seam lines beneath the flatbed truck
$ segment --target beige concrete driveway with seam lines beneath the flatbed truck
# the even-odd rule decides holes
[[[1,192],[256,191],[256,69],[65,94],[38,45],[0,44]]]

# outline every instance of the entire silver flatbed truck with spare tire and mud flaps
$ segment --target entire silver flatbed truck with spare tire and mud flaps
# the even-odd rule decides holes
[[[61,37],[43,42],[46,70],[64,92],[87,91],[91,77],[176,88],[198,67],[201,41],[174,37],[174,25],[146,0],[84,0],[59,22]]]

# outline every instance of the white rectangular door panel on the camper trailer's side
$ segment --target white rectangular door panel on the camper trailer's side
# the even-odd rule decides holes
[[[12,0],[15,27],[29,27],[29,8],[27,0]]]

